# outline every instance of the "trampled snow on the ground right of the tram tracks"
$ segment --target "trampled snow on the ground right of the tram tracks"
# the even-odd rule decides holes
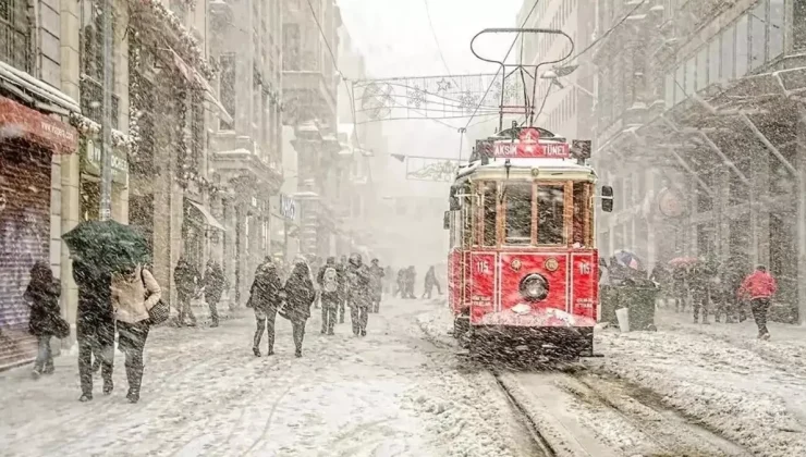
[[[672,324],[667,324],[671,321]],[[786,353],[765,357],[769,343],[752,329],[687,328],[661,313],[658,332],[597,333],[603,359],[589,365],[660,394],[663,402],[704,425],[769,457],[806,455],[806,372]],[[744,325],[747,326],[747,325]],[[734,344],[742,332],[742,344]],[[705,333],[704,333],[705,332]],[[774,343],[772,343],[774,344]],[[781,343],[783,344],[783,343]]]

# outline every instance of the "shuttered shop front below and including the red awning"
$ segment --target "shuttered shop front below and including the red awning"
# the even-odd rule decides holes
[[[35,262],[51,261],[51,156],[72,153],[70,125],[0,97],[0,370],[36,356],[23,294]],[[58,258],[58,256],[57,256]]]

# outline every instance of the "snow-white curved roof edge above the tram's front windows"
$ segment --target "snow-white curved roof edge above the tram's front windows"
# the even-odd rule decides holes
[[[502,178],[506,172],[504,163],[505,159],[490,159],[487,164],[481,164],[481,161],[474,161],[459,169],[456,181],[471,176]],[[537,171],[537,174],[535,174],[535,171]],[[591,166],[579,164],[574,159],[510,159],[509,177],[595,181],[596,172]]]

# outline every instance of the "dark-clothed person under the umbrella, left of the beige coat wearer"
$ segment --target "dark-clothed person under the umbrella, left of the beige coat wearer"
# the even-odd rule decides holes
[[[93,399],[93,355],[101,362],[103,394],[112,393],[114,361],[114,311],[112,309],[112,276],[81,258],[73,259],[73,280],[78,286],[76,338],[78,341],[78,374],[81,402]]]

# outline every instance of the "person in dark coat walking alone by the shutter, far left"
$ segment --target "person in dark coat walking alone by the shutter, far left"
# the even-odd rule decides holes
[[[36,262],[30,269],[30,282],[23,298],[30,307],[28,329],[36,336],[39,350],[34,362],[34,378],[53,372],[53,355],[50,351],[50,338],[58,332],[57,320],[60,319],[59,296],[61,284],[53,277],[53,272],[45,262]]]

